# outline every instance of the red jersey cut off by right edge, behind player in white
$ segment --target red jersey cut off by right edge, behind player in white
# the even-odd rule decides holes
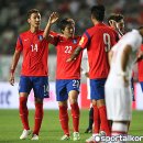
[[[143,52],[143,44],[141,46],[141,51]],[[139,81],[143,81],[143,59],[139,61],[138,68],[139,68]]]

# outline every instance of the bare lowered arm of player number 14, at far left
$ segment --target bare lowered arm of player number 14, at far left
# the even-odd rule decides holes
[[[18,62],[20,59],[20,54],[21,51],[15,50],[14,55],[13,55],[13,59],[12,59],[12,64],[11,64],[11,68],[10,68],[10,85],[14,86],[14,72],[15,72],[15,67],[18,65]]]

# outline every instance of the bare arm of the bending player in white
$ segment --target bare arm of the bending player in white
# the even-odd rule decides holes
[[[122,53],[122,56],[121,56],[121,69],[122,69],[122,73],[121,73],[121,76],[123,77],[123,80],[124,80],[124,86],[129,86],[129,79],[127,79],[127,66],[128,66],[128,63],[129,63],[129,58],[130,58],[130,54],[132,52],[132,47],[131,45],[125,45],[125,48]]]

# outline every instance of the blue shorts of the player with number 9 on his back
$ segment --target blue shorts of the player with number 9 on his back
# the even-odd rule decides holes
[[[90,79],[90,99],[99,100],[105,99],[105,84],[107,78]]]

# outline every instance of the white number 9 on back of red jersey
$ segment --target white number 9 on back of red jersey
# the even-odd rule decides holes
[[[109,52],[111,48],[111,38],[108,33],[103,33],[103,43],[105,43],[105,51]]]

